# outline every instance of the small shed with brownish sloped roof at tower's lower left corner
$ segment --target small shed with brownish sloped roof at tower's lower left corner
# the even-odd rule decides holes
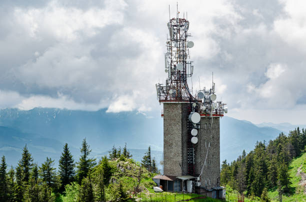
[[[180,192],[181,184],[180,180],[176,176],[165,176],[158,175],[152,178],[152,180],[157,184],[157,186],[162,186],[162,190],[165,192]]]

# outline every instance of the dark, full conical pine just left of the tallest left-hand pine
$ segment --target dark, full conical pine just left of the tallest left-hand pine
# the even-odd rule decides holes
[[[66,143],[63,147],[63,152],[61,153],[59,164],[58,164],[58,173],[61,182],[61,191],[64,190],[64,186],[71,183],[74,179],[74,160],[70,154],[68,144]]]

